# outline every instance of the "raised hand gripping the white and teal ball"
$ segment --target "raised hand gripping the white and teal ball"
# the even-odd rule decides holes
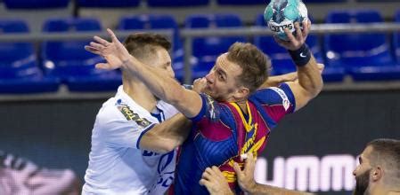
[[[285,49],[290,51],[296,51],[301,47],[301,45],[303,45],[306,42],[306,38],[310,31],[310,28],[311,28],[310,20],[306,20],[303,22],[303,29],[301,29],[300,24],[296,22],[295,35],[293,35],[289,29],[287,28],[283,29],[285,31],[285,34],[288,36],[288,41],[284,41],[278,38],[277,36],[273,36],[273,38],[275,39],[276,43],[280,44]]]

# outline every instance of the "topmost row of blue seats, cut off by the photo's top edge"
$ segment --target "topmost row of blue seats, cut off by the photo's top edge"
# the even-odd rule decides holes
[[[386,2],[396,2],[396,0],[385,0]],[[37,9],[37,8],[65,8],[71,0],[4,0],[8,9]],[[141,0],[77,0],[78,7],[136,7]],[[347,0],[304,0],[306,4],[325,4],[325,3],[345,3]],[[372,2],[371,0],[357,0],[357,2]],[[210,4],[210,0],[147,0],[146,4],[150,7],[184,7],[184,6],[204,6]],[[221,5],[246,5],[246,4],[266,4],[265,0],[216,0],[216,4]]]

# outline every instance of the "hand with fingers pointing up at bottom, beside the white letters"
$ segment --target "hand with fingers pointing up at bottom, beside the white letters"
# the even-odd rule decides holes
[[[256,167],[256,158],[254,158],[253,153],[247,153],[247,159],[243,170],[238,165],[238,163],[233,163],[234,171],[238,177],[238,183],[242,191],[251,193],[251,190],[256,189],[256,181],[254,180],[254,169]]]

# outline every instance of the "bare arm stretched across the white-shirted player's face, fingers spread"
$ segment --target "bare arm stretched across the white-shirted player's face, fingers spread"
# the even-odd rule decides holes
[[[156,97],[175,105],[176,109],[184,113],[186,117],[194,117],[200,113],[202,100],[199,93],[185,90],[174,78],[166,76],[164,70],[143,64],[129,54],[110,29],[107,31],[110,34],[111,43],[94,36],[94,42],[85,47],[86,51],[100,55],[107,60],[107,63],[97,64],[97,68],[123,68],[140,79]]]

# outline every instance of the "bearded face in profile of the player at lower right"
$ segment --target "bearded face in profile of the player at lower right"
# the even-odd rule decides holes
[[[371,154],[371,150],[371,146],[365,148],[358,159],[360,161],[360,165],[358,165],[357,168],[355,168],[355,170],[353,171],[353,175],[355,175],[355,191],[353,192],[354,195],[369,194],[367,189],[370,185],[370,172],[372,168],[368,157]]]

